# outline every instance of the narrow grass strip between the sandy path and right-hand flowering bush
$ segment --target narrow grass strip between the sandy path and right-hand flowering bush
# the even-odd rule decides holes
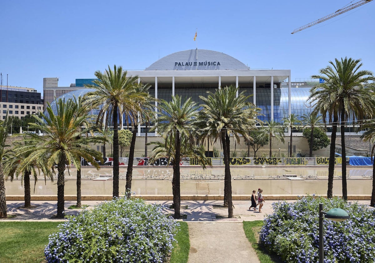
[[[245,235],[248,238],[249,242],[252,244],[252,247],[257,252],[258,258],[261,263],[282,263],[282,261],[275,255],[271,255],[267,252],[262,246],[258,243],[258,232],[263,226],[263,221],[244,221],[243,230]]]

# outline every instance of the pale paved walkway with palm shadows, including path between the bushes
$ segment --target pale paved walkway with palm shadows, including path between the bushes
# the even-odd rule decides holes
[[[82,204],[95,206],[103,201],[82,201]],[[165,213],[173,213],[169,206],[172,201],[147,201],[163,205]],[[190,235],[189,263],[206,262],[252,262],[259,259],[246,239],[242,221],[263,220],[264,216],[273,212],[272,203],[267,201],[262,208],[250,211],[250,201],[233,201],[233,213],[236,218],[225,218],[228,209],[223,208],[223,201],[181,201],[181,215],[186,215]],[[288,201],[293,202],[293,201]],[[351,201],[349,202],[351,203]],[[369,200],[359,201],[360,204],[370,204]],[[15,218],[1,219],[4,221],[58,221],[51,219],[56,214],[56,201],[32,201],[33,209],[23,209],[23,201],[8,201],[8,215],[17,215]],[[75,215],[79,209],[68,209],[76,204],[75,201],[65,201],[65,213]]]

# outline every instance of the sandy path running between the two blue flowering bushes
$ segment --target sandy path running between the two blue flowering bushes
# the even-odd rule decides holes
[[[188,222],[188,263],[259,263],[242,222]]]

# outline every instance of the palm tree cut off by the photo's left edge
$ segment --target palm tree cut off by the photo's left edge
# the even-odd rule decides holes
[[[6,214],[6,198],[5,198],[5,178],[3,173],[3,157],[6,145],[6,138],[9,133],[9,118],[0,123],[0,218],[7,218]]]

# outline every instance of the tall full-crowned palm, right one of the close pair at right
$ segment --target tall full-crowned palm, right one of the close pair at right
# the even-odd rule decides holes
[[[364,119],[374,113],[374,93],[367,87],[375,80],[371,71],[360,70],[362,63],[360,59],[341,58],[330,61],[330,65],[320,70],[320,75],[312,78],[323,79],[312,90],[317,93],[317,89],[329,91],[331,103],[329,112],[340,117],[340,133],[342,148],[342,198],[348,200],[347,193],[347,168],[345,149],[345,124],[350,117],[358,120]],[[323,91],[324,92],[324,91]],[[312,95],[311,95],[312,97]],[[315,96],[316,97],[316,96]],[[333,112],[333,110],[335,112]],[[327,110],[323,110],[327,111]]]

